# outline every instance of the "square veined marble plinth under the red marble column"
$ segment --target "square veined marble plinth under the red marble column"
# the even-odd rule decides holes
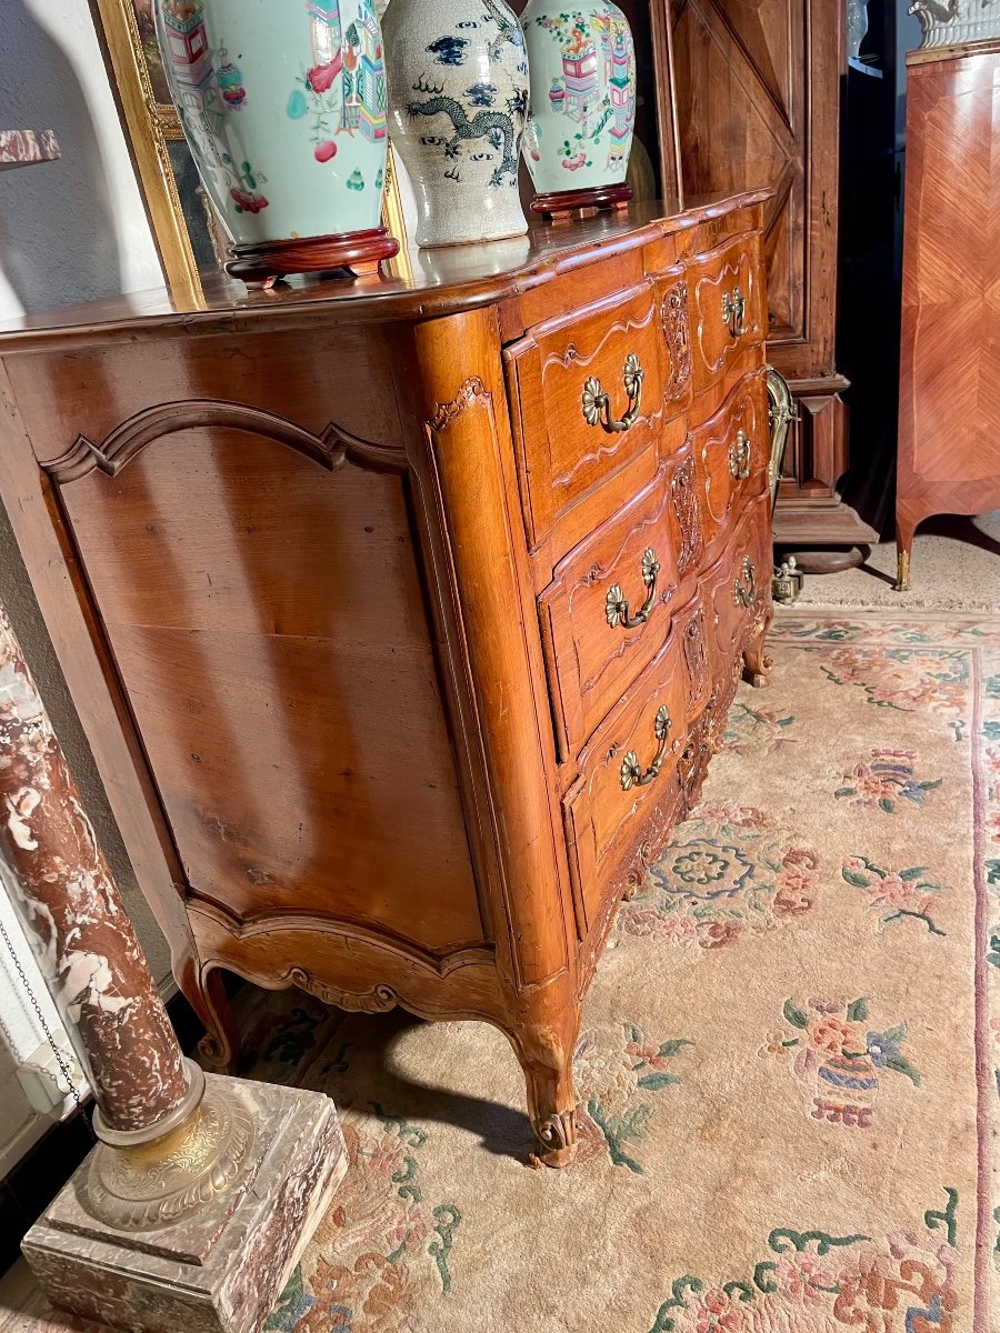
[[[205,1080],[208,1114],[159,1170],[157,1144],[100,1144],[28,1232],[57,1308],[133,1333],[263,1328],[347,1170],[344,1140],[321,1093]]]

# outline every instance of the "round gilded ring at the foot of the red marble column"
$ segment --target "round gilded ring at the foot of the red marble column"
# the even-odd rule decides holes
[[[123,1232],[171,1226],[229,1189],[252,1145],[253,1121],[239,1089],[213,1082],[197,1110],[164,1138],[137,1148],[100,1144],[87,1206]]]

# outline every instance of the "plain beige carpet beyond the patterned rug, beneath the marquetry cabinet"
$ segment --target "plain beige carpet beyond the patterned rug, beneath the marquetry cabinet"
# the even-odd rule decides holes
[[[913,544],[912,591],[895,581],[896,543],[885,541],[860,569],[809,576],[796,605],[1000,613],[1000,512],[928,520]]]

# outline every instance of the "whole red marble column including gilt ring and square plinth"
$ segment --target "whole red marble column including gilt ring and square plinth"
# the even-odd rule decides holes
[[[32,1272],[129,1333],[256,1333],[344,1174],[336,1109],[184,1058],[1,607],[0,850],[100,1140],[24,1238]]]

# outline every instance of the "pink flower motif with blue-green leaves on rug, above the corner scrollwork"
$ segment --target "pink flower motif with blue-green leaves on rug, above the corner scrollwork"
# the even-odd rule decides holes
[[[796,1078],[812,1093],[813,1120],[869,1129],[885,1073],[920,1086],[920,1074],[903,1054],[907,1024],[875,1030],[865,998],[813,998],[803,1005],[785,1000],[781,1012],[791,1030],[772,1032],[759,1053],[791,1060]]]

